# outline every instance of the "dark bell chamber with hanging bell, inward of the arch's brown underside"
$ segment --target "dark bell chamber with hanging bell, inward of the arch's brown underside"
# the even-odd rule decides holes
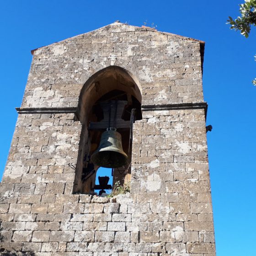
[[[109,91],[95,101],[87,116],[84,137],[81,137],[83,141],[81,144],[83,157],[80,162],[83,168],[81,191],[94,194],[95,190],[102,188],[96,184],[99,167],[112,169],[109,175],[111,185],[117,181],[121,185],[129,183],[133,123],[134,120],[139,119],[141,119],[140,102],[125,91]],[[86,172],[88,165],[93,166],[93,171],[89,175]],[[102,176],[106,176],[109,172],[104,171],[106,172]],[[80,187],[79,184],[77,187]]]

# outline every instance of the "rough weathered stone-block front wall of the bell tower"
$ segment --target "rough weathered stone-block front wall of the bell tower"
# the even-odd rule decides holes
[[[81,89],[111,65],[139,81],[131,194],[72,195],[82,124],[74,113],[23,113],[1,182],[1,250],[38,256],[213,256],[215,241],[200,43],[113,23],[38,48],[22,107],[77,107]]]

